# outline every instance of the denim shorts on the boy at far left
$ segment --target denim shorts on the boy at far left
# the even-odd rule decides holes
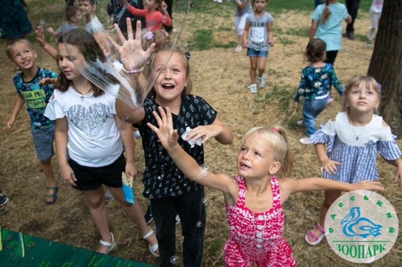
[[[31,128],[36,156],[39,160],[50,159],[54,155],[53,140],[56,125],[47,129]]]

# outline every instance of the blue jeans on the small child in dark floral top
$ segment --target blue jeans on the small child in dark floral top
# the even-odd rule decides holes
[[[316,118],[325,109],[328,98],[305,100],[303,105],[303,123],[306,126],[307,137],[312,136],[316,131]]]

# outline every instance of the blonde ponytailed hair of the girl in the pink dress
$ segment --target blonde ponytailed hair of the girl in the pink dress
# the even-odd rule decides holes
[[[276,124],[273,128],[254,127],[247,131],[242,139],[242,143],[251,135],[258,134],[261,139],[272,149],[275,161],[280,163],[278,176],[289,177],[293,171],[293,157],[287,143],[284,129]]]

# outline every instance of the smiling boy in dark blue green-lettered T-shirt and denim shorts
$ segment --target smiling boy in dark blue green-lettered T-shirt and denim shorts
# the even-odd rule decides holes
[[[40,161],[47,186],[45,203],[50,205],[56,202],[59,188],[53,178],[52,156],[55,122],[46,118],[43,114],[50,97],[53,94],[53,85],[39,85],[44,78],[56,78],[57,74],[39,68],[36,65],[37,54],[31,43],[25,39],[15,39],[7,46],[7,56],[16,65],[21,73],[13,78],[17,89],[17,99],[13,113],[7,127],[13,131],[14,123],[20,110],[27,103],[27,110],[31,119],[31,132],[35,145],[36,155]]]

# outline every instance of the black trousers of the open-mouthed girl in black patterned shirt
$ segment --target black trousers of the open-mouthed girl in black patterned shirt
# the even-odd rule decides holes
[[[175,266],[171,261],[176,255],[176,211],[180,217],[183,241],[184,266],[199,267],[203,259],[206,210],[204,188],[190,194],[152,198],[151,213],[156,225],[159,244],[159,266]]]

